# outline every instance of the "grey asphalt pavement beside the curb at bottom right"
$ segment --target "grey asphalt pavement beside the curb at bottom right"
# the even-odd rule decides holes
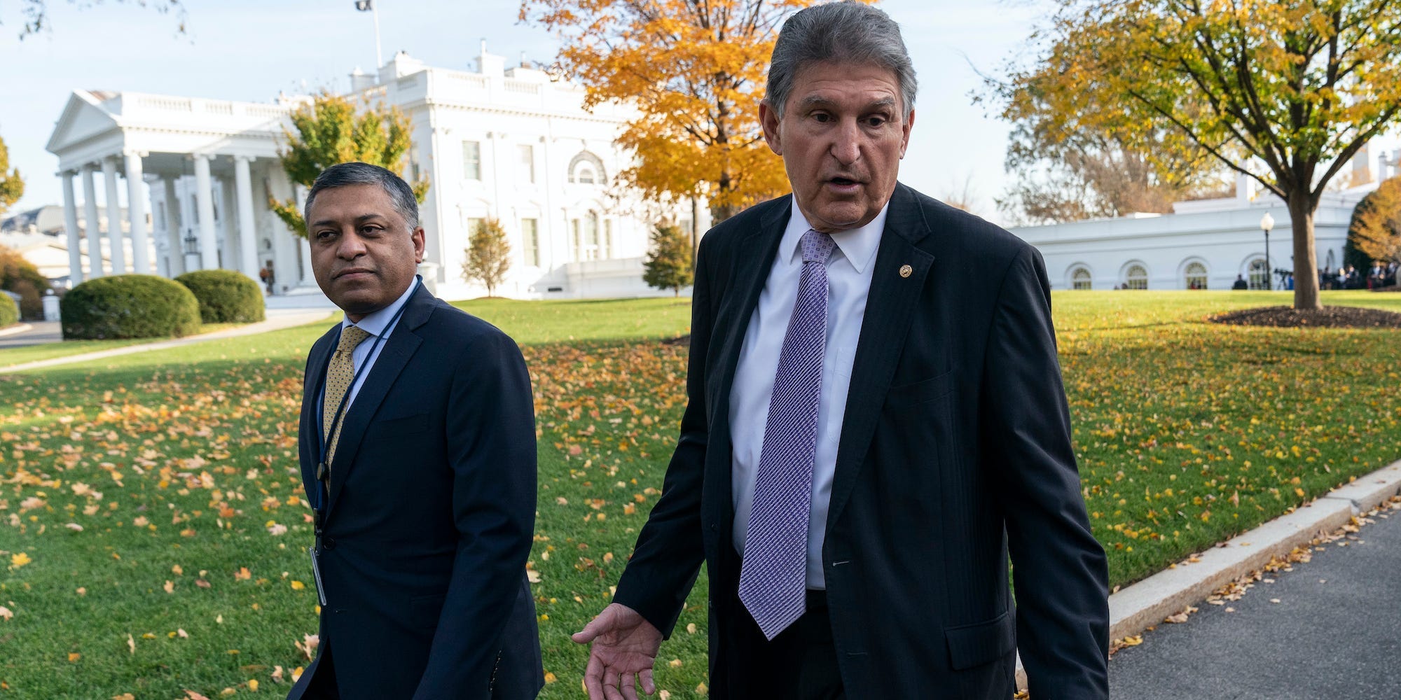
[[[1199,603],[1187,623],[1145,633],[1110,661],[1110,696],[1401,697],[1401,510],[1381,514],[1240,601]]]

